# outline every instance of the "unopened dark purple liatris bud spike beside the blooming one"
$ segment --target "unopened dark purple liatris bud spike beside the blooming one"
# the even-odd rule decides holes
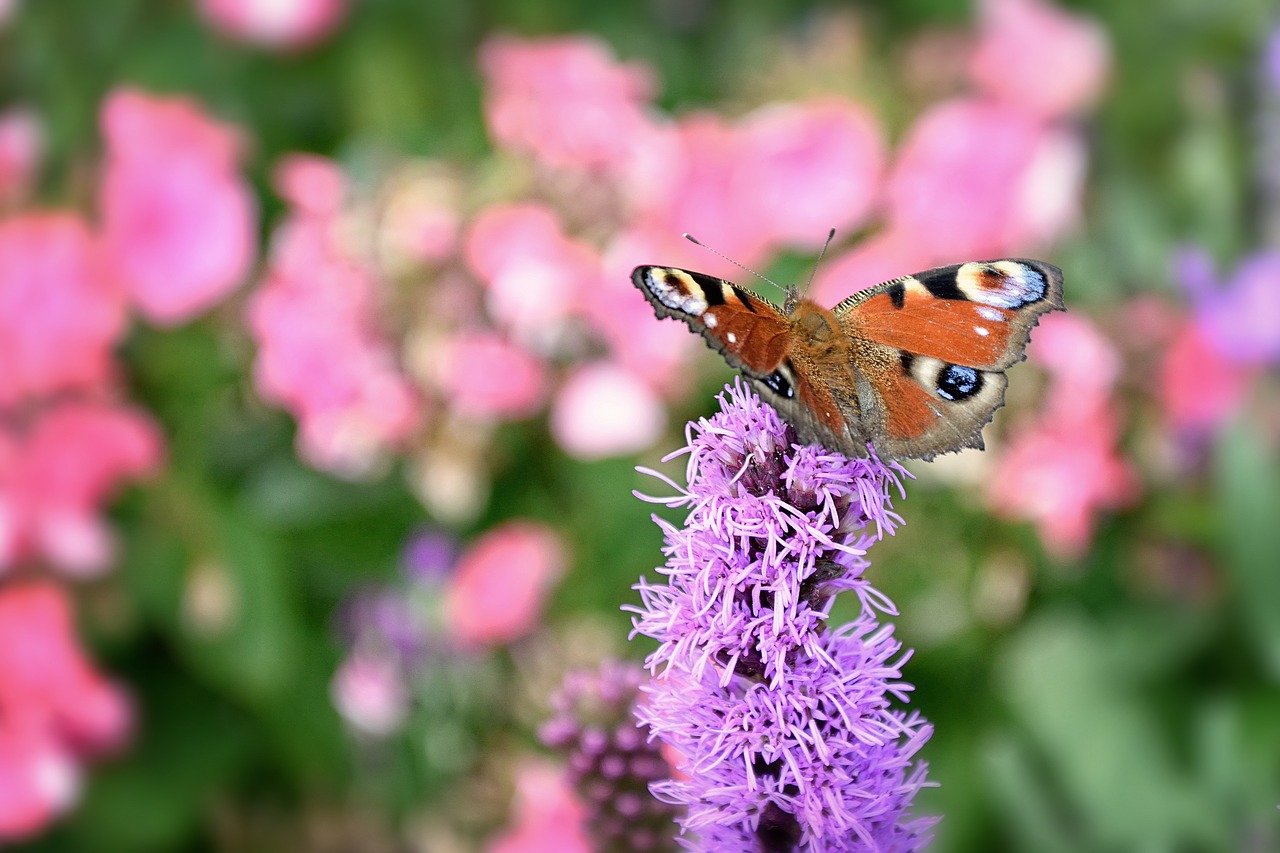
[[[543,743],[568,756],[570,783],[600,850],[676,849],[676,808],[649,793],[669,772],[658,745],[636,727],[640,681],[637,669],[617,662],[596,672],[570,672],[541,730]]]

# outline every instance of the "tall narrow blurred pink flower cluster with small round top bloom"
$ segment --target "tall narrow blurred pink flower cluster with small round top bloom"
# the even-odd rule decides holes
[[[302,457],[360,475],[412,433],[421,401],[378,328],[372,273],[338,242],[328,215],[334,178],[315,160],[285,160],[284,191],[310,206],[273,236],[250,328],[259,391],[297,418]]]

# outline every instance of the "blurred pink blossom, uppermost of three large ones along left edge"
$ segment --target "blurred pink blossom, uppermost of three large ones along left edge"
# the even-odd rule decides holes
[[[124,320],[124,296],[79,218],[0,223],[0,405],[105,380]]]

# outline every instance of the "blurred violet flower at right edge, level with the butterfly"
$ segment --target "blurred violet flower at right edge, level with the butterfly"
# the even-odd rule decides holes
[[[1280,361],[1280,251],[1245,257],[1225,283],[1198,248],[1183,250],[1175,269],[1197,325],[1224,359],[1242,365]]]

